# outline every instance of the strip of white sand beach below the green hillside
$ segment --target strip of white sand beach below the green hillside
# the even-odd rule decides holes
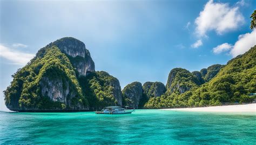
[[[256,103],[245,104],[245,105],[213,106],[213,107],[167,108],[163,110],[192,111],[192,112],[256,112]]]

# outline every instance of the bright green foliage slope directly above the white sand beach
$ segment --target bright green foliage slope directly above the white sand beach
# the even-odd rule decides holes
[[[256,46],[229,61],[225,67],[214,66],[211,70],[214,72],[219,68],[221,68],[219,73],[200,87],[194,85],[185,93],[180,93],[172,91],[172,87],[175,86],[173,85],[164,95],[150,98],[145,107],[214,106],[222,103],[247,103],[255,98],[255,96],[248,96],[248,93],[256,92]],[[185,70],[180,71],[186,72]],[[207,73],[205,73],[205,69],[201,70],[201,73],[204,73],[202,76],[206,77],[208,70]],[[174,77],[173,80],[175,79]]]

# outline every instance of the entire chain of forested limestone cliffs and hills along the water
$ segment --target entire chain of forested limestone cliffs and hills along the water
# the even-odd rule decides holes
[[[75,38],[62,38],[38,50],[36,56],[12,75],[4,91],[12,111],[89,111],[105,106],[173,108],[252,102],[256,92],[256,46],[226,65],[200,71],[174,68],[166,85],[161,82],[128,84],[95,71],[90,52]]]

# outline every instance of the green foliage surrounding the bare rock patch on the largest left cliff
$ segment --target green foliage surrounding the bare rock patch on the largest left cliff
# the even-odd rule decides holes
[[[83,97],[72,64],[56,46],[43,48],[31,62],[19,69],[12,77],[14,80],[4,91],[5,104],[11,108],[28,110],[63,108],[62,103],[52,102],[47,96],[42,96],[40,82],[44,77],[69,82],[70,89],[76,92],[75,99],[71,100],[73,105],[81,103],[87,106],[87,100]]]

